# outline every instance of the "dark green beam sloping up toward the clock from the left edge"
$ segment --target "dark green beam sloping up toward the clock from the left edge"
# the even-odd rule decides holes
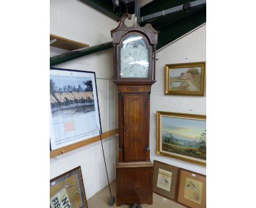
[[[91,46],[87,48],[81,48],[75,51],[71,51],[68,53],[60,54],[58,56],[54,56],[50,58],[50,66],[61,64],[63,62],[68,62],[69,60],[73,60],[75,58],[80,58],[82,56],[87,56],[92,53],[100,52],[103,50],[107,50],[109,48],[112,48],[113,44],[112,42],[106,42],[104,44]]]

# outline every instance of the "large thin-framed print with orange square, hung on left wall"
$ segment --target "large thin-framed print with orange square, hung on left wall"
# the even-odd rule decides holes
[[[50,68],[50,151],[98,136],[95,72]]]

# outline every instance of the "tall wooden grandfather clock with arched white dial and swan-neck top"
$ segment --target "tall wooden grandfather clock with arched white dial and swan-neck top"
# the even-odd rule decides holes
[[[153,164],[149,150],[149,107],[155,82],[155,47],[158,32],[150,25],[125,25],[121,17],[111,31],[114,46],[114,83],[118,88],[119,155],[117,206],[152,204]],[[155,55],[154,55],[155,56]]]

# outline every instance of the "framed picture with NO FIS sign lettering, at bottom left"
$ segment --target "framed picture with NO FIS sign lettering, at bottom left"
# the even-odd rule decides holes
[[[87,208],[81,167],[50,180],[50,208]]]

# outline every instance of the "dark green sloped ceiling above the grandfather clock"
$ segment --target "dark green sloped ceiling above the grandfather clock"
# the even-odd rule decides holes
[[[127,5],[119,1],[119,7],[115,7],[112,0],[80,0],[91,7],[108,15],[112,19],[119,21],[123,14],[134,14],[135,4],[133,2]],[[195,0],[194,0],[195,1]],[[185,0],[141,0],[141,17],[156,13],[165,9],[173,8],[184,4]],[[193,2],[193,1],[190,1]],[[150,21],[152,26],[158,30],[158,45],[156,49],[164,47],[173,40],[190,32],[194,28],[206,22],[206,6],[191,8],[189,11],[178,11],[169,15],[161,16]]]

